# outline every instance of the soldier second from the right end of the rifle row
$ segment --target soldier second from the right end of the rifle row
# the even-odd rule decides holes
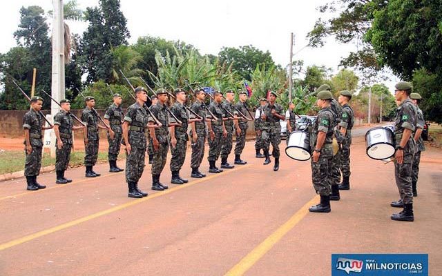
[[[231,166],[227,162],[227,158],[229,158],[233,146],[233,125],[238,128],[238,117],[233,115],[233,98],[235,97],[235,92],[233,92],[233,90],[227,90],[225,94],[226,100],[221,104],[222,110],[224,111],[224,118],[227,118],[227,120],[224,121],[225,132],[222,132],[221,168],[235,168],[235,166]],[[233,118],[227,111],[233,115]]]

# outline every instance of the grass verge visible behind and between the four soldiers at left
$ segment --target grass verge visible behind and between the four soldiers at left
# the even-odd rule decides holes
[[[107,152],[98,152],[98,161],[107,161]],[[83,166],[84,152],[75,151],[70,154],[70,167]],[[0,152],[0,175],[9,172],[18,172],[24,169],[25,152],[24,150],[5,150]],[[41,159],[41,166],[46,167],[55,165],[55,157],[50,157],[49,152],[45,152]]]

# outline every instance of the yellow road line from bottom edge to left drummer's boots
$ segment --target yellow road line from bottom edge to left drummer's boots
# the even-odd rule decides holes
[[[282,224],[282,226],[269,235],[264,242],[256,246],[256,248],[253,248],[253,250],[251,250],[246,257],[242,258],[241,261],[236,264],[236,266],[233,266],[233,268],[231,268],[231,270],[229,270],[225,275],[236,276],[246,273],[249,268],[256,264],[256,262],[258,262],[258,260],[261,259],[261,257],[264,256],[267,251],[278,243],[280,239],[282,239],[282,237],[289,232],[289,230],[294,228],[294,226],[296,226],[296,224],[298,224],[298,222],[309,213],[309,207],[317,203],[318,198],[319,197],[316,195],[316,197],[312,198],[309,202],[307,202],[307,204],[302,206],[302,208],[300,208],[295,215],[286,221],[285,224]]]

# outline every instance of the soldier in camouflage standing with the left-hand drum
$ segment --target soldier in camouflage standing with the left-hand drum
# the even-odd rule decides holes
[[[323,90],[317,94],[316,104],[321,108],[318,117],[313,123],[310,132],[310,147],[313,150],[311,157],[311,179],[316,194],[320,195],[320,204],[311,206],[310,212],[329,213],[330,193],[332,183],[330,175],[332,174],[333,159],[333,136],[334,136],[334,114],[330,108],[330,102],[333,95],[328,90]]]

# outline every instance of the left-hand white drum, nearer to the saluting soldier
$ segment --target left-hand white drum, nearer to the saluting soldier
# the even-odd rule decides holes
[[[291,159],[307,161],[311,157],[310,135],[308,132],[296,130],[287,139],[285,154]]]

